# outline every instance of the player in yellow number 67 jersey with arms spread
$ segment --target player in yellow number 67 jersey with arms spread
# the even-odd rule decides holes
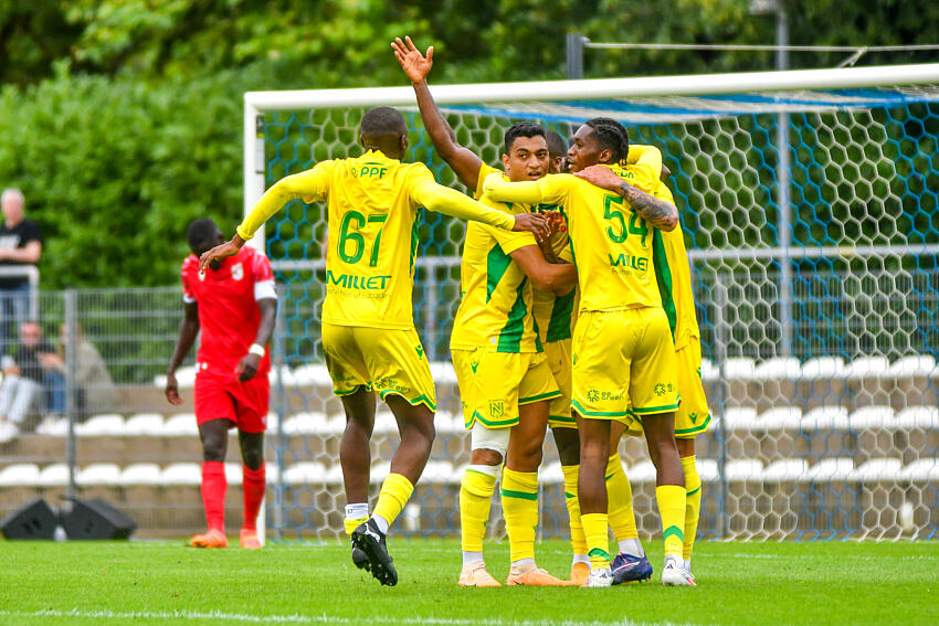
[[[431,453],[436,409],[433,380],[414,330],[411,293],[421,206],[506,231],[547,236],[542,215],[510,215],[434,181],[423,163],[402,163],[404,118],[393,108],[365,114],[357,158],[317,163],[268,189],[228,243],[204,253],[201,267],[235,254],[287,201],[326,200],[329,220],[323,350],[334,393],[346,411],[339,448],[346,529],[354,561],[386,585],[398,582],[386,547],[388,528],[411,497]],[[369,439],[376,395],[398,421],[401,444],[373,514],[368,516]]]

